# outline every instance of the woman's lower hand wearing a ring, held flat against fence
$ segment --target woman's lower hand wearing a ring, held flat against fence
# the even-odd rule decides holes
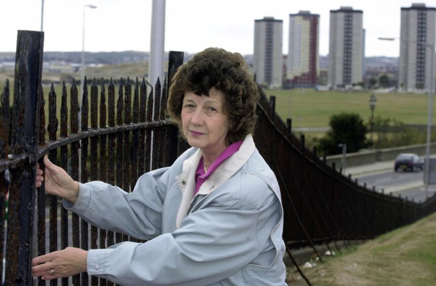
[[[32,260],[32,276],[51,280],[86,272],[87,256],[88,252],[83,249],[66,247],[61,251],[35,257]]]

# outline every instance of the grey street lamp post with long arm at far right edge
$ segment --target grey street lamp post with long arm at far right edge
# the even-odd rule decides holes
[[[383,41],[394,41],[395,38],[379,38]],[[407,40],[407,39],[406,39]],[[413,41],[413,40],[407,40]],[[430,86],[428,89],[428,116],[427,116],[427,142],[425,148],[425,173],[424,173],[424,183],[425,183],[425,197],[428,198],[428,177],[429,177],[429,162],[430,162],[430,137],[431,137],[431,123],[433,116],[433,94],[434,94],[434,44],[428,44],[422,41],[413,41],[418,45],[424,45],[430,49],[431,54],[431,68],[430,68]]]

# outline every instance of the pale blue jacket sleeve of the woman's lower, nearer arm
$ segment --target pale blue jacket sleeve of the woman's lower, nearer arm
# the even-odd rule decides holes
[[[217,198],[191,213],[173,233],[146,243],[91,249],[88,274],[124,285],[208,285],[229,277],[265,251],[279,220],[278,198],[265,183],[257,183],[250,185],[264,188],[261,205]]]

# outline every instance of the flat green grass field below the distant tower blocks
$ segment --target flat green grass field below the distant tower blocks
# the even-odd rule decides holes
[[[292,118],[293,127],[326,127],[330,117],[341,112],[358,113],[368,122],[371,117],[370,91],[316,91],[313,89],[265,90],[276,96],[276,111],[282,119]],[[403,123],[427,124],[427,94],[376,93],[374,116]],[[434,103],[434,102],[433,102]],[[436,106],[436,103],[433,104]],[[290,116],[289,116],[290,115]]]

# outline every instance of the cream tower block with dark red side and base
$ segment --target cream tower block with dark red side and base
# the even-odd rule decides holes
[[[319,73],[319,15],[289,14],[287,75],[293,87],[314,87]]]

